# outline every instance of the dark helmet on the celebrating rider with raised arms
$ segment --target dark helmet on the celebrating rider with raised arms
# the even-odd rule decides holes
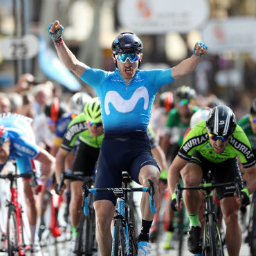
[[[113,54],[118,53],[142,53],[143,42],[134,33],[121,33],[113,40],[111,46]]]

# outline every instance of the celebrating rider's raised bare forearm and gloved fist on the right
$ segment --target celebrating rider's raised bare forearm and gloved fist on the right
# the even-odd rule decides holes
[[[174,77],[174,79],[177,79],[179,77],[182,77],[183,75],[188,75],[189,73],[192,73],[192,71],[194,71],[197,64],[199,64],[201,60],[201,57],[196,55],[205,55],[207,53],[208,47],[205,46],[205,44],[196,43],[196,46],[194,48],[195,55],[192,54],[188,59],[185,59],[177,66],[174,66],[172,68],[172,77]]]

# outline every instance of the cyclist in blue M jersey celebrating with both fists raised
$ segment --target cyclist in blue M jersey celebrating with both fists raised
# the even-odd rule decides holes
[[[133,33],[122,33],[112,44],[116,70],[106,72],[78,61],[64,44],[62,31],[63,26],[59,21],[48,27],[60,60],[84,82],[93,86],[100,99],[104,139],[98,159],[95,188],[120,187],[121,172],[127,170],[131,178],[143,186],[147,186],[148,179],[153,180],[157,203],[160,172],[147,138],[152,104],[161,86],[194,71],[200,57],[208,52],[208,47],[196,43],[194,54],[174,68],[141,71],[138,66],[143,57],[143,43]],[[115,205],[115,196],[104,193],[94,196],[97,241],[102,256],[111,255],[110,227]],[[154,217],[146,193],[143,193],[141,210],[143,220],[138,237],[138,255],[145,256],[150,254],[149,228]]]

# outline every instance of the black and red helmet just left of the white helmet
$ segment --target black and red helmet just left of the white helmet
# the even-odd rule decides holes
[[[53,122],[57,122],[57,120],[67,112],[67,105],[66,102],[60,100],[59,98],[55,97],[53,100],[50,100],[46,103],[46,107],[44,109],[44,113],[48,118],[51,118]]]

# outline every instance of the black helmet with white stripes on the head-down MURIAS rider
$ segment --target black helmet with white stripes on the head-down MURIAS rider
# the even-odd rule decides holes
[[[206,119],[206,129],[210,134],[228,137],[237,127],[234,112],[227,106],[219,105],[210,110]]]

